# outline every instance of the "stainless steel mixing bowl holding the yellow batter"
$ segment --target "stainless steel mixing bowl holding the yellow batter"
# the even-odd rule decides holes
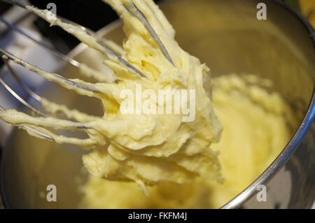
[[[165,1],[162,10],[174,25],[179,44],[207,62],[213,75],[253,73],[273,80],[274,90],[290,103],[300,119],[279,157],[223,208],[309,208],[315,199],[314,30],[279,1],[264,1],[267,20],[257,20],[259,2],[173,0]],[[121,24],[115,22],[99,33],[120,43],[120,28]],[[85,45],[79,45],[71,56],[95,68],[103,59]],[[76,75],[70,66],[59,73]],[[100,113],[97,101],[57,89],[46,84],[40,92],[80,110]],[[81,196],[78,178],[84,178],[80,171],[82,154],[78,148],[38,140],[15,129],[2,155],[5,206],[77,208]],[[57,202],[41,197],[51,184],[57,186]],[[267,202],[255,199],[258,185],[267,185]]]

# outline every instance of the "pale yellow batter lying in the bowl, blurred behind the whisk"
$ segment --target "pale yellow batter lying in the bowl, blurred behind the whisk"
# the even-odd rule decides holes
[[[148,187],[145,196],[133,183],[92,178],[83,186],[85,208],[219,208],[271,164],[288,143],[290,108],[277,93],[260,87],[253,76],[214,79],[214,110],[223,124],[219,151],[223,183],[196,180]],[[265,80],[265,82],[267,82]],[[269,85],[269,83],[267,82]]]

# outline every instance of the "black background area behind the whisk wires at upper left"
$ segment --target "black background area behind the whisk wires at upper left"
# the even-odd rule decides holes
[[[106,24],[118,19],[115,11],[102,0],[29,0],[38,8],[46,8],[48,3],[57,5],[57,15],[97,31]],[[155,0],[158,2],[160,0]],[[10,7],[0,2],[0,14]],[[38,31],[57,48],[66,54],[78,45],[79,41],[59,27],[49,27],[48,22],[38,18],[34,21]]]

